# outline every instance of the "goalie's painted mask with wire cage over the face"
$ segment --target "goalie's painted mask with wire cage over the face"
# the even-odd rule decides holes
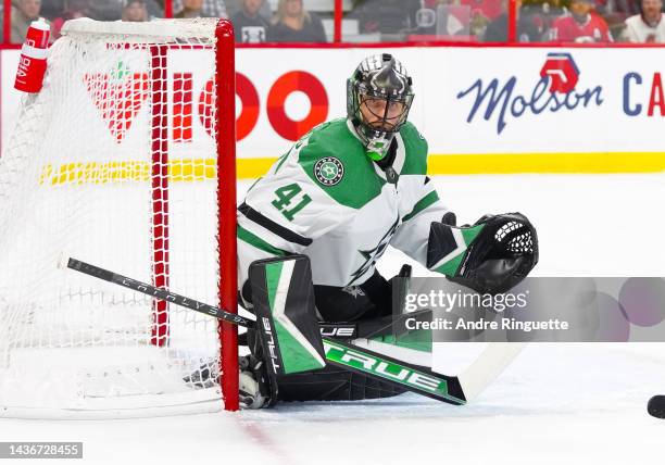
[[[411,77],[391,54],[369,56],[347,80],[347,114],[372,160],[382,160],[406,123]]]

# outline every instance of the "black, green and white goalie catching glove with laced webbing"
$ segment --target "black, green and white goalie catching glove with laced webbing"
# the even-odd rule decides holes
[[[537,263],[536,229],[522,213],[485,215],[473,226],[431,224],[427,267],[479,293],[506,292]]]

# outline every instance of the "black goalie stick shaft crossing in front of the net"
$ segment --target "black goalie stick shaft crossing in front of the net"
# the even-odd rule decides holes
[[[84,273],[86,275],[103,279],[104,281],[113,282],[115,285],[123,286],[127,289],[135,290],[137,292],[145,293],[158,299],[162,299],[166,302],[174,303],[176,305],[185,306],[195,312],[203,313],[205,315],[214,316],[225,322],[236,324],[246,328],[254,327],[254,321],[244,318],[235,313],[225,312],[216,306],[209,305],[198,300],[189,299],[187,297],[171,292],[166,289],[156,288],[147,282],[137,281],[136,279],[128,278],[123,275],[110,272],[99,266],[90,265],[89,263],[81,262],[80,260],[70,259],[67,267],[76,272]]]

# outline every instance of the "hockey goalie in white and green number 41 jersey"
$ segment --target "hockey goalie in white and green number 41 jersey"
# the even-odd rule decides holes
[[[506,291],[538,261],[536,231],[519,213],[456,226],[427,177],[427,141],[407,122],[412,78],[391,54],[365,59],[347,83],[347,117],[302,137],[248,191],[238,208],[239,290],[255,312],[252,265],[304,255],[318,322],[390,321],[393,279],[376,271],[388,246],[481,293]],[[506,232],[509,231],[509,232]],[[510,240],[511,238],[527,240]],[[259,313],[258,313],[259,315]],[[269,380],[265,344],[243,338],[240,398],[246,407],[277,401],[396,395],[394,385],[335,366]]]

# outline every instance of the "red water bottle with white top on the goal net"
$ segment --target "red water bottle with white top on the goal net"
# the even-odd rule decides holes
[[[22,92],[39,92],[46,73],[46,54],[51,28],[43,18],[33,21],[21,48],[14,88]]]

